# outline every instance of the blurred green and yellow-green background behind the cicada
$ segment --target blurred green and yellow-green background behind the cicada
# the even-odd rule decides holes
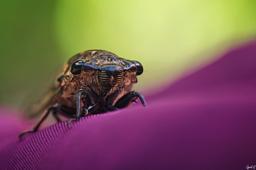
[[[256,1],[1,1],[1,105],[17,106],[73,55],[142,63],[134,89],[159,91],[256,33]]]

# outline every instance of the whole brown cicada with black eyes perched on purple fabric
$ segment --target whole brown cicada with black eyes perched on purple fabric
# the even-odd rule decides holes
[[[33,130],[52,113],[57,122],[59,114],[78,121],[83,116],[105,113],[128,107],[139,98],[146,107],[144,97],[131,91],[143,67],[138,61],[126,60],[109,51],[88,50],[69,59],[63,74],[57,79],[53,95],[44,102],[44,113]]]

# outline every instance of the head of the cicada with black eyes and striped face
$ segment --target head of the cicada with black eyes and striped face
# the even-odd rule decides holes
[[[140,62],[125,60],[108,51],[90,50],[80,54],[82,57],[76,55],[77,60],[71,64],[70,73],[73,79],[81,80],[101,96],[136,83],[136,76],[143,72]]]

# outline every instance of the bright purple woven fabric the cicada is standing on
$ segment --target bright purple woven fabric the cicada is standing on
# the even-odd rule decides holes
[[[256,165],[256,42],[168,88],[148,108],[81,118],[23,136],[1,110],[0,169],[246,169]]]

